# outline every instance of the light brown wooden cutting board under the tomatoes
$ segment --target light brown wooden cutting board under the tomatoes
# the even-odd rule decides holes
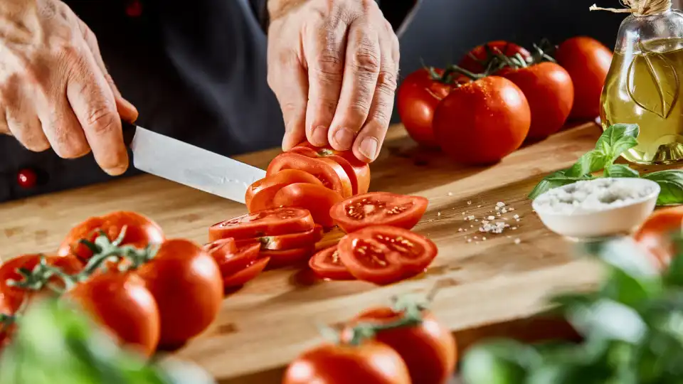
[[[600,272],[590,262],[573,259],[573,244],[544,228],[526,193],[545,174],[566,168],[591,149],[599,134],[598,125],[582,124],[495,166],[463,168],[442,154],[418,149],[403,128],[393,127],[371,166],[371,190],[429,198],[415,230],[439,247],[430,270],[388,287],[320,282],[296,270],[265,272],[227,297],[211,329],[177,356],[198,362],[221,383],[277,383],[279,369],[321,341],[317,324],[338,324],[366,307],[388,304],[392,295],[427,292],[435,284],[441,290],[433,310],[461,348],[492,334],[560,333],[561,326],[541,321],[529,334],[529,324],[520,319],[541,311],[551,292],[591,287]],[[278,153],[273,149],[240,160],[265,168]],[[499,235],[478,233],[482,218],[495,215],[497,202],[514,208],[502,215],[511,228]],[[0,258],[51,252],[70,226],[113,210],[143,213],[170,238],[200,243],[206,242],[209,225],[245,213],[238,203],[154,176],[121,179],[0,205]],[[470,215],[479,221],[465,220]]]

